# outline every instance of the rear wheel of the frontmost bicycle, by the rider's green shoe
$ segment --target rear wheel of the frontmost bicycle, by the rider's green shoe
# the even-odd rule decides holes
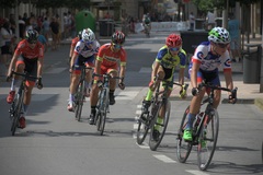
[[[191,153],[192,150],[192,143],[191,142],[186,142],[183,139],[183,133],[184,133],[184,129],[187,125],[187,119],[186,116],[190,112],[190,106],[187,106],[187,108],[184,112],[180,128],[179,128],[179,132],[178,132],[178,138],[176,138],[176,142],[178,142],[178,147],[176,147],[176,156],[179,162],[181,163],[185,163],[186,160],[188,159],[188,155]]]

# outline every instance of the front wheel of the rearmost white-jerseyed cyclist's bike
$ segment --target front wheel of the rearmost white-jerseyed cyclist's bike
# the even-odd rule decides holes
[[[78,121],[81,119],[82,106],[84,102],[84,81],[80,82],[75,96],[75,117]]]

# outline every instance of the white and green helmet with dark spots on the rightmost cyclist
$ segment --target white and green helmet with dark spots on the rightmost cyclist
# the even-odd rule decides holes
[[[229,44],[231,38],[226,28],[214,27],[208,34],[208,40],[216,44]]]

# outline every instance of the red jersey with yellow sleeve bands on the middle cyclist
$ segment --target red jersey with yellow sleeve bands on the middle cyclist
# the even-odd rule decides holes
[[[118,63],[121,66],[126,66],[126,51],[121,48],[119,51],[114,52],[111,47],[111,43],[101,46],[96,60],[102,61],[104,67],[115,67],[117,68]]]

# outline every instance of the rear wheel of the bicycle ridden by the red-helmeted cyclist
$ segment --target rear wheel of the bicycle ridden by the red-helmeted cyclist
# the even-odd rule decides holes
[[[136,140],[138,144],[142,144],[149,131],[149,119],[150,119],[149,117],[150,117],[149,112],[140,114],[140,117],[138,119],[137,135],[136,135],[137,137]],[[145,118],[145,121],[142,121],[142,118]]]

